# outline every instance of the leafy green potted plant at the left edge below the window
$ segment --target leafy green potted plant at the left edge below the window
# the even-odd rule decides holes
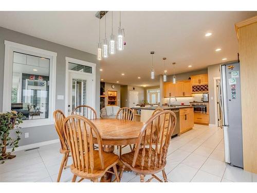
[[[11,111],[7,113],[0,113],[0,160],[12,159],[16,155],[11,155],[16,147],[19,147],[18,143],[21,139],[22,132],[16,130],[16,137],[11,138],[10,130],[19,128],[18,125],[22,123],[22,113],[17,113],[16,111]],[[6,152],[6,147],[12,148],[11,152]],[[4,163],[4,162],[2,162]]]

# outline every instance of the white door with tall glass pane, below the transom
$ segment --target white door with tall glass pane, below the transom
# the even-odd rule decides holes
[[[68,114],[80,105],[95,109],[92,75],[88,73],[69,72]]]

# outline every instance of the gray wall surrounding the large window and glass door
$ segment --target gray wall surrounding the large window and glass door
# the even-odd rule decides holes
[[[96,60],[96,56],[89,54],[78,49],[70,48],[32,36],[27,34],[12,31],[0,27],[0,110],[3,108],[3,82],[4,82],[4,57],[5,57],[5,44],[4,41],[8,40],[36,48],[46,49],[49,51],[57,52],[57,76],[56,76],[56,109],[64,111],[64,100],[57,100],[57,95],[65,96],[65,57],[84,60],[96,63],[96,111],[99,116],[100,108],[100,64]],[[86,42],[85,42],[86,43]],[[58,135],[54,130],[54,126],[41,126],[32,128],[22,128],[22,137],[19,143],[20,146],[49,141],[57,139]],[[29,138],[24,138],[24,133],[29,132]]]

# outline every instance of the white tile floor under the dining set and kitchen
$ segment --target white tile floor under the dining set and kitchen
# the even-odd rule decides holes
[[[15,159],[0,165],[0,182],[56,182],[62,159],[59,148],[57,143],[26,152],[14,152],[17,155]],[[168,180],[257,182],[257,174],[226,164],[223,148],[223,130],[195,125],[194,129],[171,140],[165,168]],[[126,151],[129,149],[124,148],[123,152]],[[71,160],[68,161],[70,163]],[[162,178],[161,172],[157,175]],[[61,181],[70,182],[71,178],[70,170],[64,170]],[[149,178],[146,176],[145,180]],[[140,178],[133,172],[124,172],[121,182],[140,182]]]

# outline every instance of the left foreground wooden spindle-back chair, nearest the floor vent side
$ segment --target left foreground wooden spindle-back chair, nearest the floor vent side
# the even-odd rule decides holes
[[[74,174],[72,182],[77,177],[81,178],[78,182],[84,179],[98,182],[106,172],[115,174],[115,180],[120,181],[116,167],[119,156],[103,151],[101,135],[93,122],[81,115],[70,115],[64,120],[64,128],[73,160],[70,166]],[[94,149],[94,143],[98,144],[98,150]]]

